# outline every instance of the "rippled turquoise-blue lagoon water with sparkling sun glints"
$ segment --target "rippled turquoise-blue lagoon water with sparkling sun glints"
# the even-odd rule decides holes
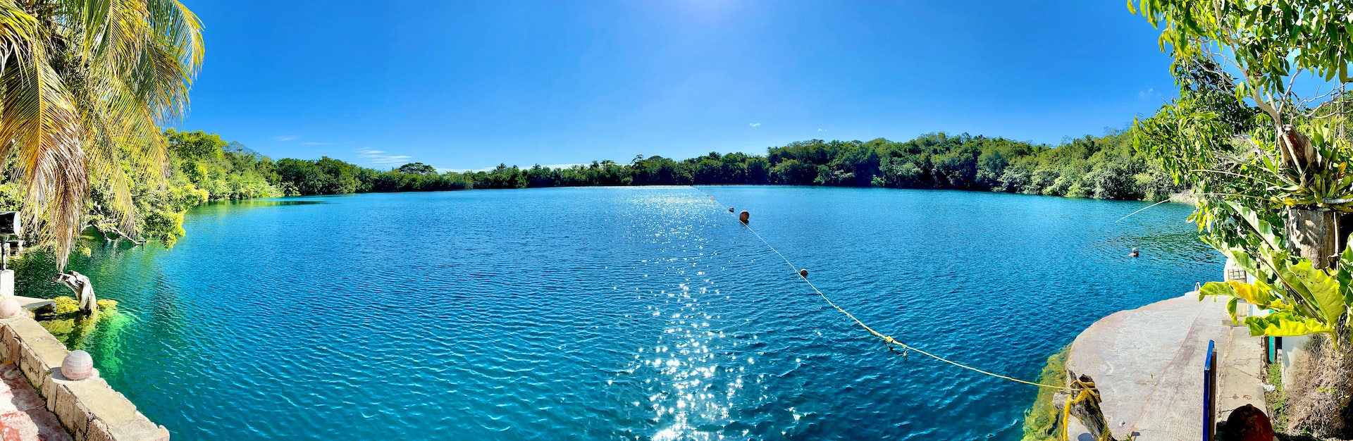
[[[1222,269],[1178,204],[705,189],[871,326],[1026,379]],[[890,353],[689,187],[211,204],[185,229],[73,264],[124,312],[77,345],[176,440],[1017,440],[1035,394]]]

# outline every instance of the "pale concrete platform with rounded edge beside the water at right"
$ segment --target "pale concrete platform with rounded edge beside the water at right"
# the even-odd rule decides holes
[[[1201,440],[1203,360],[1210,340],[1224,367],[1218,380],[1223,384],[1218,395],[1224,398],[1218,409],[1243,403],[1264,409],[1264,391],[1256,383],[1260,350],[1229,350],[1258,345],[1258,340],[1250,341],[1243,327],[1231,327],[1229,321],[1224,302],[1199,302],[1192,292],[1119,311],[1076,338],[1066,367],[1095,379],[1115,438]],[[1233,342],[1233,335],[1243,340]],[[1089,437],[1072,426],[1070,440]]]

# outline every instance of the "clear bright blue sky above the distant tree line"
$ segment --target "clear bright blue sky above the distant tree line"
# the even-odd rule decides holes
[[[180,129],[375,168],[1055,143],[1174,91],[1158,32],[1112,0],[184,3],[207,54]]]

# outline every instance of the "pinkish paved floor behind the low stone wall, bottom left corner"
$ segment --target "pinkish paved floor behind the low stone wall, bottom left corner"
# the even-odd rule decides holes
[[[69,441],[70,434],[46,406],[14,363],[0,364],[0,438]]]

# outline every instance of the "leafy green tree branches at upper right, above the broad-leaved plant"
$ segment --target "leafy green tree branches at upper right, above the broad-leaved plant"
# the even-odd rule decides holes
[[[1161,28],[1180,85],[1178,99],[1137,122],[1135,142],[1201,196],[1200,227],[1226,222],[1224,200],[1270,218],[1293,206],[1353,211],[1346,96],[1293,88],[1353,80],[1353,4],[1138,0],[1128,8]]]

